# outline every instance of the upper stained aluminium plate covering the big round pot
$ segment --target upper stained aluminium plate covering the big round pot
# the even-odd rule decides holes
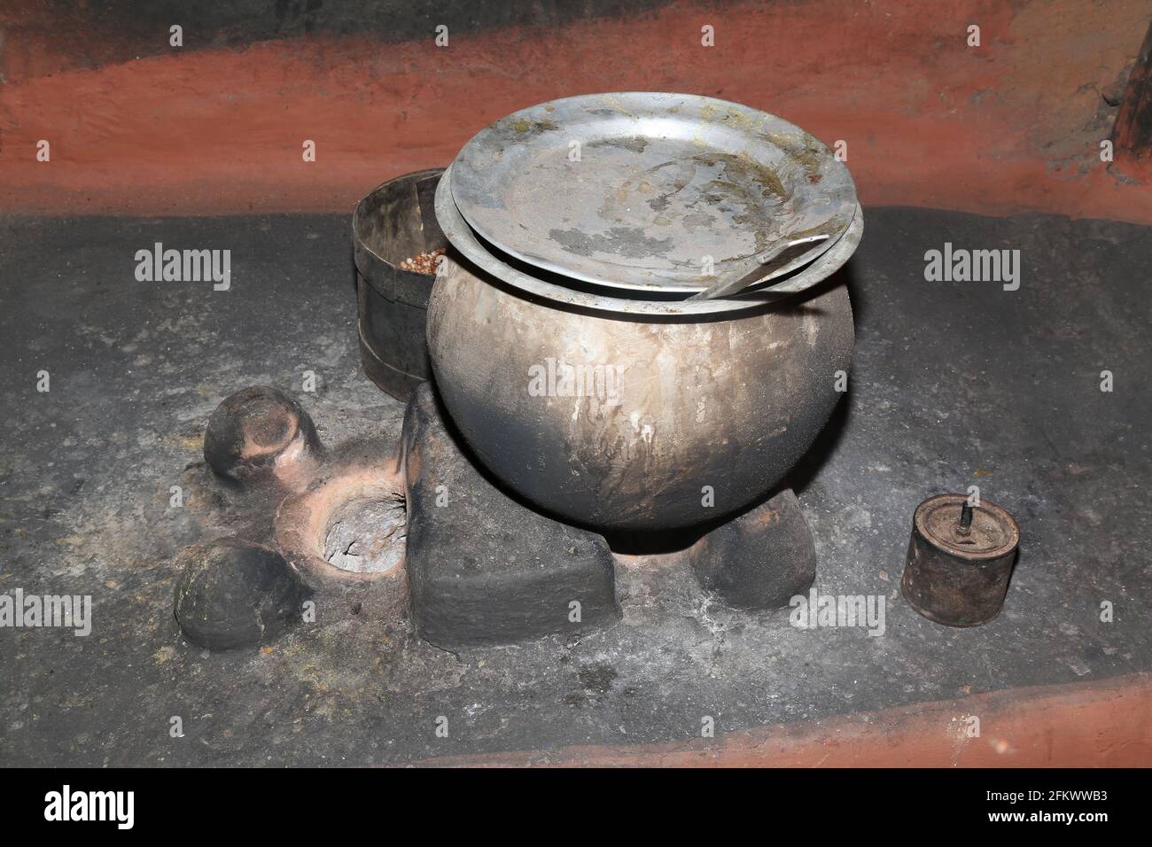
[[[780,118],[694,94],[569,97],[477,133],[452,168],[468,224],[538,267],[620,288],[699,292],[741,278],[780,241],[771,279],[814,260],[848,229],[851,175]]]

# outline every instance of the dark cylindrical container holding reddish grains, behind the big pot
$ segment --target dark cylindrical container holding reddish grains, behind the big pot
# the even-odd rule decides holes
[[[388,180],[353,214],[361,362],[373,383],[402,402],[431,377],[424,327],[435,277],[400,263],[448,245],[433,210],[442,173],[432,168]]]

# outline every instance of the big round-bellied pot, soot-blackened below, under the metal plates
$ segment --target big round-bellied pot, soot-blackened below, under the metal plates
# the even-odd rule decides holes
[[[571,523],[672,529],[746,507],[811,446],[851,363],[836,278],[746,310],[613,315],[464,262],[429,301],[437,386],[480,462]]]

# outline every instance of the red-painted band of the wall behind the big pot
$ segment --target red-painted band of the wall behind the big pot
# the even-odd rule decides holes
[[[865,204],[1152,222],[1146,167],[1099,157],[1150,21],[1147,0],[674,2],[460,33],[446,20],[447,47],[431,25],[408,41],[183,48],[158,28],[137,60],[115,28],[78,54],[50,17],[0,12],[0,211],[350,212],[516,108],[639,89],[737,100],[847,141]]]

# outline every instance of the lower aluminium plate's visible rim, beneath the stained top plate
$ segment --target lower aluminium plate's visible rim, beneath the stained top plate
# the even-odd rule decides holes
[[[471,263],[473,272],[483,275],[491,275],[530,295],[544,300],[554,301],[561,305],[576,309],[590,309],[598,312],[612,312],[615,315],[628,315],[634,320],[644,320],[649,317],[688,316],[688,315],[717,315],[719,312],[738,312],[744,309],[763,308],[781,297],[787,297],[795,292],[811,288],[824,281],[839,271],[859,247],[861,239],[864,237],[864,212],[859,205],[852,215],[852,222],[848,232],[836,240],[836,243],[828,248],[823,256],[811,262],[803,270],[788,278],[787,282],[778,286],[748,289],[730,297],[719,297],[717,300],[653,300],[654,294],[637,294],[628,296],[627,292],[620,292],[621,296],[608,296],[597,292],[579,290],[575,287],[558,285],[540,277],[525,273],[517,267],[513,267],[500,256],[494,255],[486,244],[482,243],[472,228],[468,226],[456,203],[452,196],[452,168],[449,166],[440,179],[440,184],[435,190],[435,217],[437,222],[444,230],[445,237],[460,252],[460,255]],[[604,290],[604,289],[600,289]],[[611,289],[609,289],[611,290]],[[685,295],[687,296],[687,295]]]

